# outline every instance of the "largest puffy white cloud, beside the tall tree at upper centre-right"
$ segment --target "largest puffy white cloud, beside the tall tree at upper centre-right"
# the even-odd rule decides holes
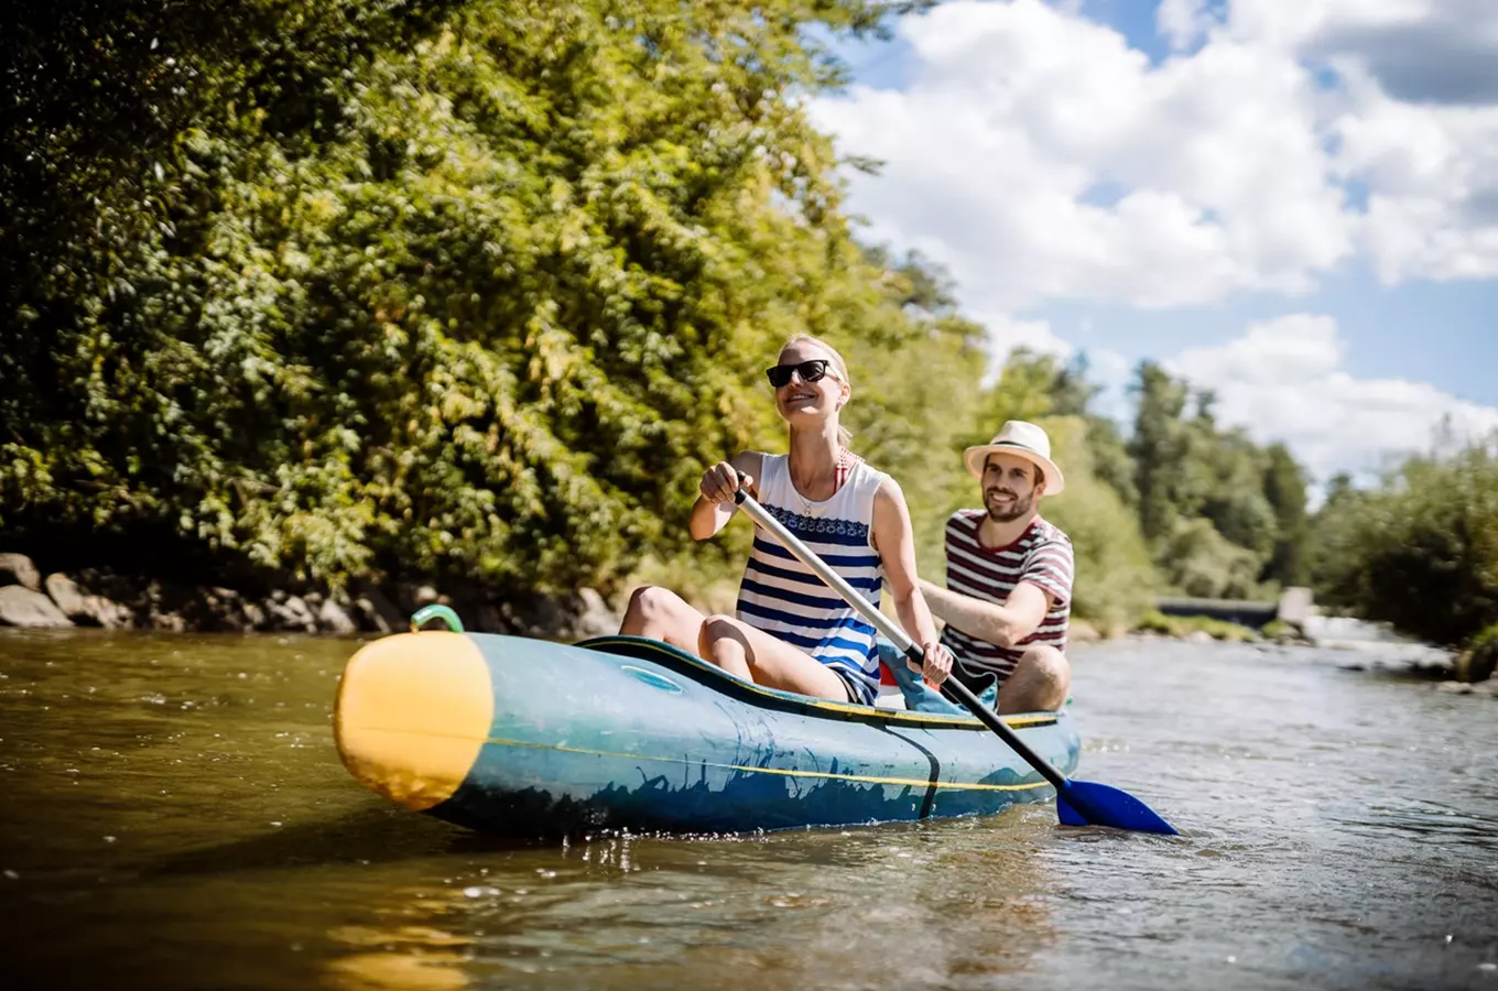
[[[902,31],[908,90],[813,114],[885,162],[851,178],[875,237],[933,246],[977,308],[1303,292],[1353,250],[1315,81],[1273,49],[1216,39],[1152,67],[1040,0],[950,3]]]

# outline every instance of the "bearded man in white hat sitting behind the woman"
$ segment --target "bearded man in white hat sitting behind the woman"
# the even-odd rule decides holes
[[[999,684],[1001,714],[1059,710],[1071,687],[1071,539],[1041,519],[1035,503],[1065,488],[1050,437],[1010,421],[963,461],[980,482],[983,509],[947,521],[947,587],[921,579],[930,611],[945,620],[941,642],[953,675],[981,695]]]

